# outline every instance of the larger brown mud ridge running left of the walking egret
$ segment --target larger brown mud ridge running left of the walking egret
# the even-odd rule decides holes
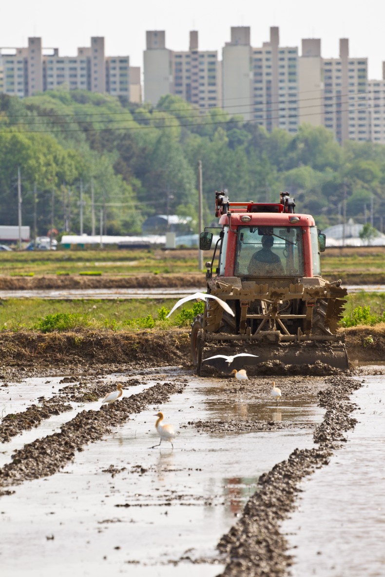
[[[111,429],[128,421],[130,415],[140,413],[150,404],[167,402],[171,395],[184,391],[187,383],[188,379],[157,383],[137,395],[103,405],[99,411],[81,411],[61,426],[60,433],[37,439],[16,451],[12,462],[0,469],[0,486],[19,485],[57,473],[84,445],[102,439]]]

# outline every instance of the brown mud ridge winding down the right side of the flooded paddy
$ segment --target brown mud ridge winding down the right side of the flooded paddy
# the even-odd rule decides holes
[[[280,533],[281,522],[296,507],[300,482],[316,468],[328,464],[334,449],[345,441],[343,432],[354,428],[350,413],[356,405],[349,398],[362,384],[349,377],[329,377],[330,387],[319,392],[326,407],[322,424],[315,429],[318,448],[295,449],[289,459],[261,475],[259,489],[246,504],[242,517],[218,544],[226,556],[223,577],[284,577],[292,564],[288,544]],[[218,576],[219,577],[219,576]]]

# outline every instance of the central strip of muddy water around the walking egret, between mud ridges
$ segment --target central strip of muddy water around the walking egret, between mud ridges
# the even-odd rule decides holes
[[[192,378],[184,393],[134,415],[61,473],[1,497],[2,570],[13,577],[217,575],[215,545],[259,475],[294,448],[312,447],[311,426],[323,417],[315,400],[283,399],[277,409],[267,395],[236,394],[228,379]],[[169,444],[149,449],[158,443],[158,410],[178,428],[174,451]],[[309,428],[243,434],[184,428],[197,419],[251,418],[290,418]]]

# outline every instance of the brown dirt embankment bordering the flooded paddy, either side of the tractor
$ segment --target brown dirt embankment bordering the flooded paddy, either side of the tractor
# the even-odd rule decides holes
[[[375,327],[351,327],[344,331],[350,361],[376,362],[385,359],[385,323]],[[84,331],[84,332],[0,332],[1,372],[10,368],[79,366],[89,370],[121,365],[190,366],[188,329],[170,331]]]

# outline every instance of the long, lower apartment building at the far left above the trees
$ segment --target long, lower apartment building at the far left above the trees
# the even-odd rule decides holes
[[[64,85],[141,102],[140,69],[130,67],[128,56],[106,57],[101,36],[74,57],[42,48],[41,38],[28,38],[27,48],[0,48],[0,75],[0,91],[20,98]]]

